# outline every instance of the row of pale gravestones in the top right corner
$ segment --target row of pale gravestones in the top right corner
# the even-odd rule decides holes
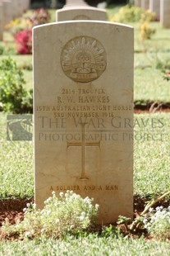
[[[170,1],[169,0],[134,0],[138,7],[155,12],[157,20],[163,27],[170,28]]]

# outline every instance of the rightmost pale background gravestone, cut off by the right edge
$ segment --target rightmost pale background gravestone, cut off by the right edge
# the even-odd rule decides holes
[[[170,28],[170,1],[160,0],[160,22],[163,27]]]

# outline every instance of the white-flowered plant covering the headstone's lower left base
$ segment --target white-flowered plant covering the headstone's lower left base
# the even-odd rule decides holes
[[[98,213],[98,205],[92,205],[93,199],[83,199],[72,191],[65,194],[60,192],[56,197],[44,201],[44,209],[37,210],[34,204],[28,204],[23,221],[16,225],[9,225],[6,220],[2,226],[5,234],[18,234],[21,238],[34,238],[44,236],[47,238],[62,238],[65,235],[79,235],[89,230],[94,224]]]

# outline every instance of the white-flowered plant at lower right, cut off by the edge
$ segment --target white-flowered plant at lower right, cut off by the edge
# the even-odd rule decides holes
[[[144,223],[150,235],[158,239],[170,239],[170,206],[159,206],[155,210],[151,208]]]

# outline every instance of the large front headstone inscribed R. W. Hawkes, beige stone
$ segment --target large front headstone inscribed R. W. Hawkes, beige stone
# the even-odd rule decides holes
[[[38,207],[73,190],[99,203],[100,223],[132,217],[133,40],[110,22],[34,27]]]

